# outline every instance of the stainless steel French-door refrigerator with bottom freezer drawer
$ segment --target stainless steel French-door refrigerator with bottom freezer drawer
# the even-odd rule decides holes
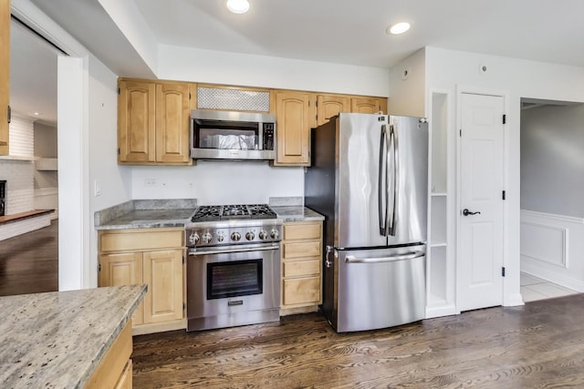
[[[325,216],[322,312],[339,333],[425,314],[428,125],[340,113],[312,129],[305,205]]]

